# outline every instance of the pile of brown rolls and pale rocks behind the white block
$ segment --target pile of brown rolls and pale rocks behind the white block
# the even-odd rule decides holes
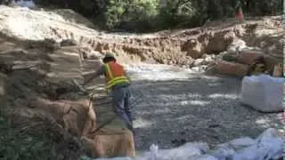
[[[219,54],[206,73],[241,77],[260,74],[282,76],[282,69],[277,69],[282,64],[282,58],[273,57],[258,47],[248,47],[244,41],[238,39]]]

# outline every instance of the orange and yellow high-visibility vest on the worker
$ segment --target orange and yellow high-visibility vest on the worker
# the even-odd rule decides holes
[[[116,62],[104,64],[107,89],[118,84],[129,84],[124,68]]]

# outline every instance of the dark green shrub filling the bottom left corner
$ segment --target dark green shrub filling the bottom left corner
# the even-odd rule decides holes
[[[36,121],[28,126],[14,124],[0,116],[0,159],[78,159],[84,155],[74,141],[63,139],[53,127]]]

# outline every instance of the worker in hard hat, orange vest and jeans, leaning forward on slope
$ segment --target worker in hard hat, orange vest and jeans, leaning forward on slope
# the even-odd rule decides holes
[[[130,111],[130,80],[126,76],[126,71],[117,63],[114,55],[107,53],[103,58],[104,64],[93,76],[86,79],[85,84],[89,83],[94,77],[104,75],[106,78],[107,90],[111,92],[113,98],[113,108],[115,113],[126,122],[129,130],[134,132],[132,114]]]

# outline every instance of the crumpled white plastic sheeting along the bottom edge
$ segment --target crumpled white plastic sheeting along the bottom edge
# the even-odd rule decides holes
[[[248,137],[232,140],[219,145],[220,148],[215,151],[209,151],[206,143],[186,143],[171,149],[159,149],[159,146],[153,144],[150,151],[142,156],[116,157],[109,160],[277,160],[282,157],[284,142],[277,131],[270,128],[255,140]],[[233,149],[234,145],[240,149]]]

